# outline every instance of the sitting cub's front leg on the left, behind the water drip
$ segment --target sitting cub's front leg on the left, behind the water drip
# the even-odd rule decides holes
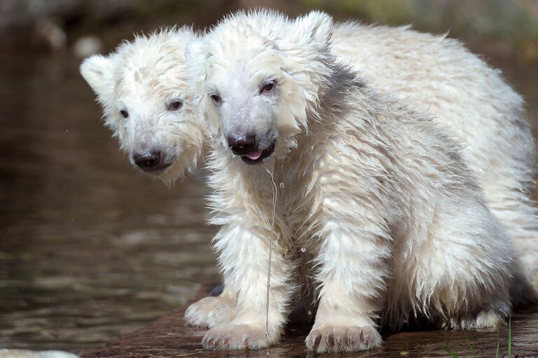
[[[216,324],[202,340],[209,350],[256,350],[273,345],[287,317],[292,265],[273,240],[270,275],[268,339],[265,336],[269,235],[267,229],[225,226],[214,242],[226,277],[226,286],[235,296],[237,306],[230,322]]]

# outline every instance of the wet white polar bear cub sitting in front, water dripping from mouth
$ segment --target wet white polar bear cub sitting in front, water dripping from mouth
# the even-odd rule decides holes
[[[309,350],[377,347],[380,325],[415,313],[459,328],[497,326],[509,314],[512,249],[459,146],[339,63],[331,30],[323,13],[238,13],[188,50],[212,130],[214,242],[237,298],[206,348],[266,345],[271,177],[283,188],[270,344],[289,314],[301,247],[319,300]]]

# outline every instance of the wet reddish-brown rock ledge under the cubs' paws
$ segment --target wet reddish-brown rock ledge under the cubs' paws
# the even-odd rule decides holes
[[[209,294],[200,291],[198,298]],[[187,305],[151,322],[132,333],[108,343],[102,349],[90,350],[83,358],[146,358],[146,357],[267,357],[265,350],[243,352],[208,352],[200,341],[205,329],[187,326],[183,318]],[[512,319],[513,357],[538,357],[538,305],[516,310]],[[306,357],[304,340],[308,326],[293,326],[287,330],[282,343],[269,350],[269,357]],[[499,331],[406,331],[384,333],[385,344],[378,350],[349,357],[450,357],[448,347],[460,357],[495,357],[500,342],[502,357],[507,357],[508,326]],[[471,352],[472,347],[474,350]],[[336,354],[324,354],[339,357]]]

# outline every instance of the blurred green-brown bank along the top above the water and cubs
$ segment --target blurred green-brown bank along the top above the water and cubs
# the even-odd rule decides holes
[[[317,8],[338,20],[413,24],[427,32],[449,32],[478,52],[513,56],[523,63],[538,60],[537,0],[2,0],[0,32],[28,34],[34,29],[34,40],[50,46],[43,34],[43,26],[50,22],[66,34],[58,47],[72,46],[83,35],[98,34],[109,50],[114,41],[141,29],[175,23],[206,27],[228,11],[258,6],[289,15]]]

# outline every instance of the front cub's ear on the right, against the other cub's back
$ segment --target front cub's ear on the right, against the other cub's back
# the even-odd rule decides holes
[[[302,32],[303,36],[306,36],[303,41],[307,41],[320,50],[329,46],[333,32],[333,18],[331,18],[331,15],[321,11],[312,11],[297,18],[296,26],[299,27],[299,33]]]

